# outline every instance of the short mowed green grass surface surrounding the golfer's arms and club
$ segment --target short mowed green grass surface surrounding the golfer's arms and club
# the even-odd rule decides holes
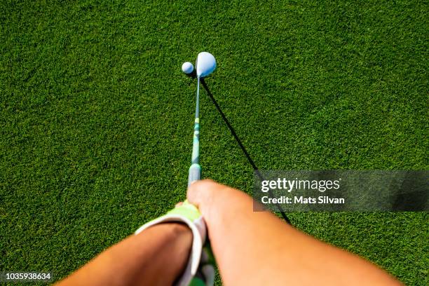
[[[60,279],[184,200],[196,82],[263,169],[428,169],[422,1],[2,1],[0,269]],[[202,93],[203,176],[252,169]],[[428,214],[291,213],[409,285]],[[245,242],[243,242],[245,243]]]

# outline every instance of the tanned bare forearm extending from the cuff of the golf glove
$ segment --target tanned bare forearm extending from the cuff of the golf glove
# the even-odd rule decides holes
[[[159,224],[110,247],[59,285],[171,285],[182,273],[192,233]]]

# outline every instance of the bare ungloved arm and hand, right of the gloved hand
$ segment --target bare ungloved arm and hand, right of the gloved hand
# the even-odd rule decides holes
[[[253,200],[245,193],[212,182],[202,184],[208,195],[195,194],[191,200],[200,202],[226,285],[397,283],[368,261],[322,243],[269,212],[253,212]],[[210,189],[217,193],[210,195]]]

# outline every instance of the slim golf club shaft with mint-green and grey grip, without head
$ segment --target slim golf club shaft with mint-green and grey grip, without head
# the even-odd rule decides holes
[[[193,143],[191,167],[189,168],[188,186],[201,178],[200,166],[200,78],[197,79],[195,121],[193,124]]]

